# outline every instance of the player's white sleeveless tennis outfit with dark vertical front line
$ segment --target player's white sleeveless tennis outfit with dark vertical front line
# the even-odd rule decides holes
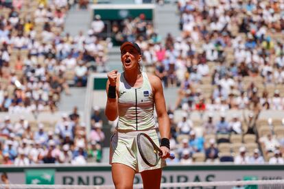
[[[146,73],[142,73],[143,84],[131,87],[123,73],[119,78],[118,114],[116,132],[110,138],[110,164],[120,163],[133,168],[137,173],[166,166],[160,160],[154,167],[143,162],[137,149],[136,136],[140,132],[149,135],[159,146],[154,120],[154,97]]]

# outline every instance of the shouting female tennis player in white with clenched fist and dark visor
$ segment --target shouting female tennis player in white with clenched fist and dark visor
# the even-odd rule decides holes
[[[106,84],[108,100],[105,114],[118,123],[110,138],[110,164],[115,188],[133,188],[135,173],[141,173],[143,188],[160,188],[165,158],[169,157],[169,117],[167,116],[161,80],[141,71],[141,49],[137,43],[124,42],[120,47],[123,73],[110,71]],[[161,145],[154,121],[158,117]],[[155,166],[142,160],[137,135],[145,133],[161,149]]]

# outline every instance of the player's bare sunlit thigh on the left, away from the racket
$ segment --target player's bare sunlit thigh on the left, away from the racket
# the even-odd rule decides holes
[[[116,189],[133,188],[135,171],[125,164],[113,163],[111,166],[113,184]]]

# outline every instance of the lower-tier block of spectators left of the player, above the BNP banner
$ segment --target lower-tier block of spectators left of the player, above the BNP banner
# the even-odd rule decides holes
[[[6,116],[1,123],[0,164],[86,164],[102,161],[102,118],[94,108],[91,131],[86,133],[86,124],[80,121],[77,108],[49,129],[38,123],[32,131],[31,123],[23,116],[12,123]],[[82,118],[81,118],[82,119]]]

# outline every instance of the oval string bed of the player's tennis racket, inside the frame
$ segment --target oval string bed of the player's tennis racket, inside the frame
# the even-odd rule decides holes
[[[140,136],[140,147],[141,147],[141,155],[147,160],[147,162],[151,165],[156,165],[158,162],[157,151],[154,149],[152,143],[145,137]]]

